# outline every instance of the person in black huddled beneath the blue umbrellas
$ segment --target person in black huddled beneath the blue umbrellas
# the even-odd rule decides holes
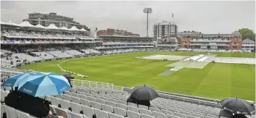
[[[4,99],[7,106],[12,106],[15,109],[24,111],[34,117],[42,118],[64,118],[62,116],[52,115],[49,109],[49,102],[44,102],[44,99],[30,96],[22,93],[15,88]]]

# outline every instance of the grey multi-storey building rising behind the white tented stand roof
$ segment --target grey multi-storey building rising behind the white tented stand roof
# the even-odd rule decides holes
[[[78,29],[84,28],[88,31],[90,30],[86,25],[81,25],[79,22],[75,22],[74,18],[57,15],[57,13],[52,12],[49,14],[30,13],[26,20],[28,20],[32,25],[38,25],[40,23],[44,27],[54,24],[58,28],[62,28],[63,26],[71,28],[72,26],[75,26]]]

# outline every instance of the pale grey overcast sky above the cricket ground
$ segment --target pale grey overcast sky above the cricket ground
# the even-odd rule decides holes
[[[152,35],[154,23],[162,20],[175,22],[178,31],[255,30],[255,1],[1,1],[1,21],[21,23],[30,12],[56,12],[73,17],[89,28],[115,28],[144,36],[144,7],[153,10],[149,14],[149,35]]]

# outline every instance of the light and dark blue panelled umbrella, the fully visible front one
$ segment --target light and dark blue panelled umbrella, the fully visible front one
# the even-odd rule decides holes
[[[31,96],[59,95],[70,88],[67,78],[55,73],[44,73],[44,75],[30,75],[20,81],[18,90]]]

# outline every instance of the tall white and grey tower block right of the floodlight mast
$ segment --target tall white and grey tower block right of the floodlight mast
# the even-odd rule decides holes
[[[154,24],[154,28],[153,28],[154,38],[176,36],[177,33],[178,33],[178,26],[173,22],[162,21]]]

